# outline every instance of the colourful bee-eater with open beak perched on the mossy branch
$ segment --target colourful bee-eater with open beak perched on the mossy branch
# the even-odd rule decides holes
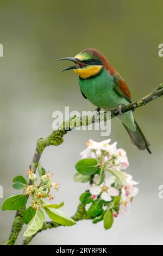
[[[96,49],[87,48],[75,57],[61,58],[60,60],[71,60],[76,64],[61,70],[61,72],[73,69],[79,76],[79,86],[83,96],[97,108],[111,111],[131,103],[131,95],[126,82],[112,68],[106,57]],[[117,118],[122,121],[128,131],[131,142],[138,149],[147,149],[151,154],[150,144],[137,125],[133,112],[123,113]]]

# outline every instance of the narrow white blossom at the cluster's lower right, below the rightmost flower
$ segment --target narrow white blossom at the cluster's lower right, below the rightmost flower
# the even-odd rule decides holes
[[[120,203],[120,214],[128,216],[131,212],[130,199],[126,196],[126,191],[122,188],[121,203]]]

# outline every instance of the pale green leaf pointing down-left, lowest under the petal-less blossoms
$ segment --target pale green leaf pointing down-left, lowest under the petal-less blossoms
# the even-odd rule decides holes
[[[23,236],[32,236],[37,233],[39,229],[42,228],[43,220],[45,219],[45,215],[41,209],[37,209],[35,216],[32,221],[29,222],[27,230],[24,232]]]

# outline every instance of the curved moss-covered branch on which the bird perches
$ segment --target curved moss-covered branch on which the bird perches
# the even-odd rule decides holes
[[[158,97],[160,97],[162,95],[163,95],[163,83],[160,84],[160,86],[158,88],[156,88],[151,94],[143,97],[140,100],[130,103],[127,106],[122,107],[121,111],[122,111],[122,113],[125,113],[128,111],[133,111],[136,108],[145,106],[147,103],[157,99]],[[118,112],[117,109],[111,111],[111,119],[114,117],[117,117],[117,115],[119,115],[119,114],[120,113]],[[108,118],[108,116],[105,112],[105,120],[106,120],[106,118]],[[37,164],[40,161],[43,150],[50,145],[58,146],[58,145],[62,144],[64,142],[63,137],[68,131],[72,131],[76,127],[87,126],[87,125],[95,123],[95,122],[96,122],[95,115],[85,116],[82,118],[75,116],[75,117],[70,118],[68,121],[64,122],[60,126],[59,129],[54,130],[51,133],[51,135],[49,135],[47,138],[38,139],[37,145],[36,145],[36,150],[35,150],[35,153],[33,156],[33,160],[32,160],[32,163],[30,164],[30,168],[33,168],[34,172],[36,172]],[[78,210],[77,210],[77,212],[78,212]],[[76,212],[76,214],[77,214],[77,212]],[[14,222],[12,223],[12,230],[10,233],[9,240],[5,243],[6,245],[14,245],[15,244],[17,236],[20,233],[22,226],[23,226],[22,214],[23,214],[22,211],[16,212]],[[57,223],[45,222],[43,228],[40,231],[45,230],[47,228],[55,228],[58,226],[59,226],[59,224],[57,224]]]

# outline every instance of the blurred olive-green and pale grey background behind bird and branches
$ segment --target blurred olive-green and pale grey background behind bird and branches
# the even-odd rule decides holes
[[[1,173],[4,198],[17,191],[12,178],[26,175],[36,141],[52,132],[52,113],[93,111],[95,107],[80,93],[73,71],[59,74],[68,62],[61,57],[75,56],[95,47],[126,80],[132,99],[140,99],[163,82],[163,58],[158,57],[162,42],[161,0],[102,1],[0,1]],[[151,142],[152,155],[130,143],[127,132],[112,120],[112,142],[127,151],[128,172],[140,181],[140,193],[129,217],[115,220],[111,230],[103,223],[81,221],[73,227],[43,231],[32,245],[162,245],[163,199],[158,187],[163,184],[162,98],[135,111],[135,118]],[[57,203],[73,215],[86,184],[73,181],[74,165],[88,139],[102,141],[99,131],[74,131],[59,147],[43,152],[41,164],[54,173],[61,184],[55,193]],[[0,206],[3,199],[0,199]],[[0,243],[9,236],[15,213],[0,211]],[[21,233],[22,235],[22,233]],[[21,243],[21,236],[17,244]]]

